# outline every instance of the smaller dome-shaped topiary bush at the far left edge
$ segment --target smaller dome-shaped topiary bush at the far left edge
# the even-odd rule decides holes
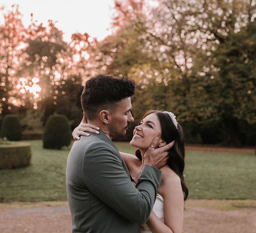
[[[22,127],[17,115],[6,115],[3,118],[1,127],[1,137],[6,137],[10,141],[20,141],[22,138]]]

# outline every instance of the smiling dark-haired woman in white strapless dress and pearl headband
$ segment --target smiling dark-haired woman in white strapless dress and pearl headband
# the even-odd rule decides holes
[[[79,135],[89,136],[87,132],[97,133],[95,125],[82,122],[73,131],[75,140]],[[175,140],[174,146],[168,151],[170,158],[160,170],[162,180],[153,211],[146,224],[141,225],[141,233],[181,233],[183,227],[184,202],[188,196],[185,185],[184,171],[184,137],[181,125],[176,116],[170,112],[151,110],[146,112],[140,123],[135,127],[130,145],[137,147],[136,156],[120,152],[134,181],[138,180],[143,168],[143,157],[154,137],[159,138],[157,147],[164,146]],[[156,147],[156,148],[157,148]]]

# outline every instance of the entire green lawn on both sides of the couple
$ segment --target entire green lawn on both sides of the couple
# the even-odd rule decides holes
[[[67,200],[65,170],[70,147],[43,149],[31,143],[31,166],[0,170],[0,201]],[[134,153],[128,143],[116,142],[119,150]],[[256,199],[256,156],[253,152],[187,151],[185,179],[189,198]]]

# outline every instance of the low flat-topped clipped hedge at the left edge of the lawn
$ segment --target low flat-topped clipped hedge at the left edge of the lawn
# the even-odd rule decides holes
[[[31,149],[27,142],[0,144],[0,169],[30,165]]]

